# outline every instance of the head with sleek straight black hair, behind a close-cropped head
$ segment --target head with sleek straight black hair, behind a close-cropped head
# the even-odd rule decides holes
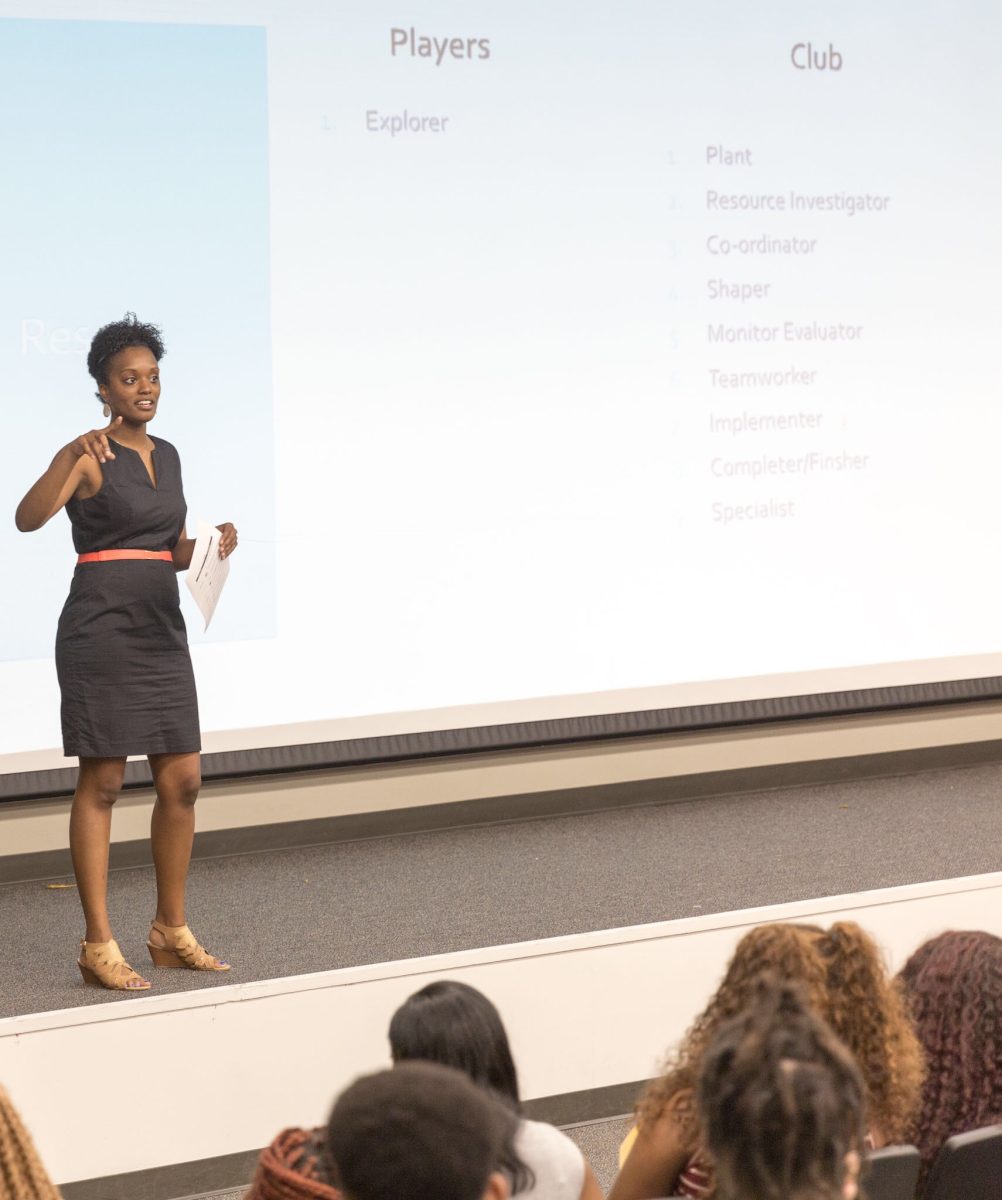
[[[468,984],[442,979],[408,997],[390,1021],[390,1054],[394,1062],[455,1067],[518,1109],[518,1076],[500,1015]]]

